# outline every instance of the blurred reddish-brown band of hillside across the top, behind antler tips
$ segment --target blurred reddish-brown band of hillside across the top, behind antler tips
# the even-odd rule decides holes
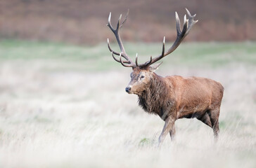
[[[185,7],[198,15],[188,41],[256,40],[254,0],[1,0],[0,37],[74,44],[96,44],[113,39],[105,24],[130,10],[122,31],[125,41],[174,40],[175,15],[183,21]]]

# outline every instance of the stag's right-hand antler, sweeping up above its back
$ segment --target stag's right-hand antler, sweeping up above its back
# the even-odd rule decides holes
[[[176,50],[176,48],[179,46],[179,44],[181,43],[181,41],[184,40],[184,38],[186,37],[186,35],[188,35],[189,31],[191,30],[191,28],[193,27],[193,25],[196,24],[196,22],[198,22],[198,20],[193,20],[193,18],[195,18],[195,15],[191,15],[191,13],[188,11],[188,9],[186,8],[186,12],[188,13],[188,20],[186,19],[186,15],[184,15],[184,25],[183,25],[183,29],[181,31],[180,29],[180,21],[179,21],[179,15],[177,12],[175,12],[175,16],[176,16],[176,29],[177,29],[177,38],[174,42],[174,44],[172,45],[171,48],[169,48],[169,50],[167,50],[167,52],[165,52],[165,37],[164,40],[162,42],[162,54],[158,55],[158,57],[155,57],[148,62],[145,62],[144,64],[140,64],[140,66],[149,66],[155,62],[158,62],[160,59],[162,59],[163,57],[165,57],[166,55],[169,55],[170,53],[172,53],[174,50]]]

